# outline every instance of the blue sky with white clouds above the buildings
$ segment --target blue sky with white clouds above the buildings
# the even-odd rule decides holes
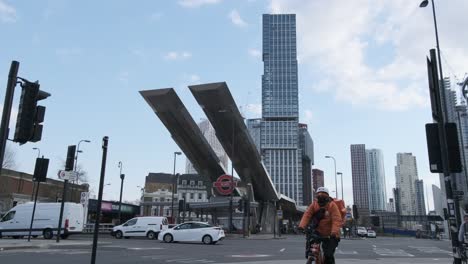
[[[432,204],[426,123],[432,122],[426,59],[435,48],[432,11],[419,0],[0,0],[0,104],[12,60],[19,76],[51,94],[42,140],[19,146],[15,169],[32,173],[37,151],[48,177],[63,169],[67,146],[81,143],[78,163],[97,192],[102,138],[109,136],[104,199],[139,198],[149,172],[172,173],[179,148],[138,91],[173,87],[194,120],[206,118],[187,85],[225,81],[246,118],[261,116],[262,14],[297,16],[300,122],[315,144],[314,168],[335,189],[343,172],[352,204],[350,144],[378,148],[387,196],[395,185],[396,153],[417,158]],[[464,0],[435,1],[444,76],[468,72]],[[456,85],[454,85],[456,88]],[[15,127],[20,89],[10,127]],[[176,171],[185,170],[185,156]],[[339,193],[341,185],[339,185]],[[332,194],[334,195],[334,194]]]

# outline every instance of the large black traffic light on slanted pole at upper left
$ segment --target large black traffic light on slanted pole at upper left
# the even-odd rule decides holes
[[[21,99],[16,119],[16,130],[13,141],[20,143],[38,142],[42,137],[42,125],[45,107],[37,106],[37,101],[46,99],[49,93],[39,90],[38,82],[23,80]]]

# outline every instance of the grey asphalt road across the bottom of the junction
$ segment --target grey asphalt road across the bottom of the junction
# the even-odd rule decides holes
[[[71,237],[89,240],[90,236]],[[102,236],[96,263],[299,263],[304,261],[304,237],[284,239],[231,238],[216,245],[199,243],[166,244],[157,240],[121,239]],[[402,263],[417,260],[425,263],[449,263],[448,241],[414,238],[376,238],[342,240],[336,252],[338,263],[367,260],[369,263]],[[90,263],[91,246],[51,246],[0,252],[0,263]],[[404,260],[404,261],[403,261]],[[423,261],[424,260],[424,261]],[[304,262],[305,263],[305,262]],[[346,262],[351,263],[351,262]],[[358,262],[352,262],[358,263]],[[408,262],[409,263],[409,262]]]

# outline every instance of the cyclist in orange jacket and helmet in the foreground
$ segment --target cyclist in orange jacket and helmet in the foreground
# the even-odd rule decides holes
[[[307,208],[299,228],[304,230],[311,222],[317,225],[318,235],[325,238],[322,242],[325,263],[334,264],[335,249],[340,241],[340,228],[343,222],[338,206],[331,202],[328,189],[325,187],[317,189],[317,199]]]

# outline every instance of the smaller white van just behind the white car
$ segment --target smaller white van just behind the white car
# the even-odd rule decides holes
[[[118,239],[138,236],[155,239],[158,238],[159,232],[168,228],[168,224],[169,221],[166,217],[135,217],[122,225],[114,226],[111,234]]]

